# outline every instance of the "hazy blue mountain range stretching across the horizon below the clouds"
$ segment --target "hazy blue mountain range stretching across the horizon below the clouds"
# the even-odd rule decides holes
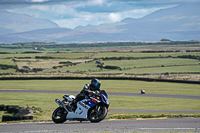
[[[16,42],[117,42],[200,40],[199,4],[181,4],[143,18],[117,23],[60,28],[56,23],[7,11],[0,12],[0,43]]]

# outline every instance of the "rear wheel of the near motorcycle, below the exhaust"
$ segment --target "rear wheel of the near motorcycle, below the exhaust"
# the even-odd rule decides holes
[[[66,121],[67,111],[63,107],[58,107],[52,114],[54,123],[63,123]]]

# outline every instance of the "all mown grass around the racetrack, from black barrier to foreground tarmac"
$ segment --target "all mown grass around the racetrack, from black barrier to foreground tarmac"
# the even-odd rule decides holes
[[[109,92],[140,93],[144,89],[146,93],[200,95],[200,85],[166,82],[145,82],[131,80],[101,80],[101,89]],[[69,90],[80,91],[89,80],[0,80],[1,89],[26,89],[26,90]],[[58,106],[55,99],[62,99],[64,94],[48,93],[0,93],[0,105],[19,105],[21,107],[39,107],[40,114],[34,116],[34,120],[51,120],[52,111]],[[141,110],[200,110],[199,100],[154,98],[139,96],[114,96],[109,95],[110,109],[141,109]],[[1,112],[1,115],[4,113]],[[126,115],[160,115],[161,113],[142,112],[110,112],[110,114]],[[162,113],[166,114],[166,113]],[[184,113],[176,113],[184,114]],[[190,115],[199,113],[190,113]]]

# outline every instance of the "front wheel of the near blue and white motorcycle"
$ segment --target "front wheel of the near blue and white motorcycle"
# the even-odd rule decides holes
[[[88,120],[92,123],[102,121],[107,115],[107,108],[104,106],[96,106],[88,111]]]

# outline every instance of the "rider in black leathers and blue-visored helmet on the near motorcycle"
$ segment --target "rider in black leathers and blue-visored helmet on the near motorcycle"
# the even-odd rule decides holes
[[[76,98],[72,101],[72,110],[75,111],[77,108],[77,102],[85,99],[89,95],[99,95],[100,94],[101,82],[93,78],[90,84],[85,84],[83,89],[79,94],[76,95]]]

